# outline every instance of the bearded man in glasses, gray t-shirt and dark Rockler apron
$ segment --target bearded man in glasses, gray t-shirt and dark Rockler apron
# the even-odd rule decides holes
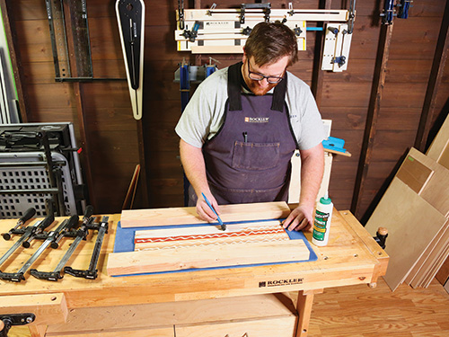
[[[292,157],[301,154],[299,205],[284,221],[310,230],[324,154],[322,121],[307,84],[287,73],[297,60],[295,33],[261,22],[251,31],[242,62],[216,71],[198,86],[176,132],[191,184],[189,206],[207,221],[218,204],[287,200]]]

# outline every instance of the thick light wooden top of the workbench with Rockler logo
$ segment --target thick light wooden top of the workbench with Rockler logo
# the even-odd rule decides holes
[[[69,308],[89,306],[122,306],[146,303],[176,302],[216,297],[237,297],[285,291],[321,289],[366,283],[374,285],[384,275],[388,255],[376,244],[349,211],[334,209],[329,244],[317,247],[315,262],[274,264],[219,270],[182,271],[154,275],[110,277],[106,272],[108,254],[112,253],[119,214],[109,216],[110,227],[101,249],[97,279],[81,279],[65,275],[57,282],[35,279],[26,273],[20,283],[0,280],[0,296],[64,293]],[[61,221],[61,218],[57,218]],[[16,219],[0,220],[0,232],[7,232]],[[312,242],[312,233],[305,233]],[[19,236],[0,241],[0,256]],[[56,250],[46,250],[31,268],[51,271],[66,252],[73,239],[64,238]],[[4,272],[18,270],[41,241],[31,248],[19,248],[2,266]],[[95,235],[88,236],[66,264],[75,269],[88,268]]]

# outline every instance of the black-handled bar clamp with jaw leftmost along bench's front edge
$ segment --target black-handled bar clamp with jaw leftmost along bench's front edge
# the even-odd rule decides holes
[[[11,280],[13,282],[20,282],[24,278],[25,272],[31,267],[31,265],[38,260],[40,255],[47,249],[48,245],[57,240],[59,235],[63,235],[66,230],[78,224],[78,216],[72,216],[68,220],[64,220],[61,225],[57,226],[57,229],[48,233],[47,239],[43,244],[40,244],[38,250],[31,255],[31,258],[22,265],[22,268],[17,272],[0,272],[0,279]]]

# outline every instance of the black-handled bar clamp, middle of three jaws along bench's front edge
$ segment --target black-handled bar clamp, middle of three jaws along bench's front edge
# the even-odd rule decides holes
[[[89,234],[89,226],[91,225],[94,217],[92,217],[93,208],[92,206],[88,206],[84,211],[83,224],[76,231],[75,241],[70,245],[67,249],[66,253],[62,257],[61,261],[57,263],[57,267],[53,271],[39,271],[35,269],[31,269],[30,273],[37,279],[47,279],[52,281],[57,281],[58,279],[62,279],[63,276],[61,274],[61,270],[63,270],[67,261],[70,259],[72,254],[75,252],[78,244],[81,243],[82,240],[85,240],[86,236]]]

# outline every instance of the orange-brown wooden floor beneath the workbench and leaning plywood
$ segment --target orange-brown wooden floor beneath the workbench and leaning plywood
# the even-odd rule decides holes
[[[395,292],[383,279],[377,288],[329,288],[315,296],[309,329],[309,337],[447,337],[449,294],[436,280]],[[13,327],[9,337],[30,336],[27,330]]]

